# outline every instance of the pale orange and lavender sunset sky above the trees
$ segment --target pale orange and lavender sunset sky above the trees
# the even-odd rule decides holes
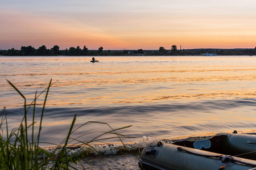
[[[0,49],[255,48],[255,0],[2,0]]]

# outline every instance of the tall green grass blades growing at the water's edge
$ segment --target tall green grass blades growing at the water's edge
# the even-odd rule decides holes
[[[77,145],[86,145],[95,150],[90,143],[96,141],[104,141],[106,139],[119,138],[122,142],[121,138],[125,137],[125,135],[118,134],[115,131],[121,130],[124,128],[129,128],[130,126],[125,126],[123,128],[113,129],[109,124],[104,122],[86,122],[85,124],[79,126],[77,129],[73,129],[77,116],[73,117],[71,126],[69,128],[67,137],[63,139],[59,145],[56,145],[56,149],[51,153],[47,152],[43,148],[39,147],[40,144],[40,133],[42,130],[42,122],[44,116],[44,109],[46,107],[47,96],[49,93],[49,89],[52,86],[52,80],[49,82],[48,87],[44,89],[40,94],[35,92],[35,98],[31,102],[31,104],[27,104],[26,97],[12,84],[9,80],[7,82],[18,92],[18,94],[24,99],[24,116],[20,121],[20,125],[18,128],[13,130],[9,130],[8,128],[8,118],[6,108],[3,108],[1,112],[1,122],[0,122],[0,169],[76,169],[73,167],[73,164],[80,164],[81,168],[85,169],[80,162],[82,158],[88,155],[88,152],[81,151],[77,152],[79,154],[69,155],[67,151],[67,146],[70,142],[75,143]],[[36,108],[36,100],[39,96],[45,94],[44,103],[42,112],[39,113],[40,120],[39,125],[35,121],[35,108]],[[28,121],[27,113],[28,110],[33,109],[32,121]],[[31,123],[30,123],[31,122]],[[71,134],[76,130],[82,128],[86,124],[105,124],[110,128],[109,131],[103,131],[100,135],[96,135],[90,141],[80,141],[77,138],[71,138]],[[39,127],[37,130],[36,127]],[[30,131],[30,132],[28,132]],[[105,138],[105,134],[114,134],[115,137]],[[87,135],[87,134],[83,134]],[[82,136],[82,135],[81,135]],[[80,136],[80,137],[81,137]],[[123,142],[122,142],[123,143]],[[51,143],[52,145],[52,143]],[[55,144],[53,144],[55,145]],[[125,145],[123,145],[125,147]],[[58,150],[57,148],[61,148]],[[82,148],[82,147],[81,147]],[[107,164],[107,163],[106,163]],[[109,167],[109,166],[108,166]],[[111,169],[109,167],[109,169]]]

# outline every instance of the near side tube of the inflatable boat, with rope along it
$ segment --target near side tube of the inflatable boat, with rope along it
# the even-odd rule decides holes
[[[241,162],[245,163],[242,164]],[[180,147],[173,144],[158,146],[150,143],[144,148],[140,163],[145,169],[252,169],[255,160],[220,155],[213,152]]]

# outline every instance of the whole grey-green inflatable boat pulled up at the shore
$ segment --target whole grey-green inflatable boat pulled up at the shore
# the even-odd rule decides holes
[[[222,133],[199,141],[154,142],[139,158],[144,169],[253,169],[256,135]]]

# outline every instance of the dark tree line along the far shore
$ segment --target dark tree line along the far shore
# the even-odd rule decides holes
[[[178,50],[176,45],[172,45],[170,49],[163,46],[159,50],[103,50],[102,46],[98,50],[89,50],[84,46],[70,47],[69,49],[60,50],[55,45],[51,49],[47,49],[45,45],[35,49],[32,46],[22,46],[20,50],[9,49],[0,50],[2,56],[200,56],[204,53],[214,53],[218,56],[253,56],[256,55],[256,47],[254,49],[183,49]]]

